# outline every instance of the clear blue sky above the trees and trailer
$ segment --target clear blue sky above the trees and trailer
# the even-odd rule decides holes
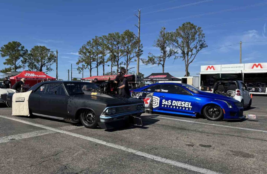
[[[257,42],[267,41],[266,0],[202,1],[1,1],[0,46],[10,41],[19,41],[28,50],[35,45],[45,45],[51,50],[58,49],[59,78],[67,80],[70,64],[76,67],[77,52],[88,40],[96,35],[115,31],[122,33],[127,29],[137,35],[138,30],[134,24],[138,23],[138,19],[134,16],[137,13],[134,10],[139,8],[143,58],[149,52],[159,54],[159,50],[152,45],[161,27],[171,31],[189,21],[203,27],[208,45],[190,64],[189,72],[192,76],[200,72],[201,65],[239,63],[239,44],[235,43],[240,41],[249,42],[242,44],[242,63],[267,62],[267,42]],[[187,5],[196,2],[199,3]],[[186,6],[178,7],[182,5]],[[174,8],[162,10],[171,7]],[[211,12],[216,13],[207,14]],[[235,45],[227,46],[231,44]],[[224,48],[215,49],[220,47]],[[209,51],[211,49],[215,50]],[[0,57],[0,69],[5,68],[4,59]],[[130,66],[136,67],[136,64],[132,63]],[[52,68],[55,70],[55,66]],[[107,70],[110,71],[110,67],[106,67],[105,71]],[[99,72],[101,75],[101,68]],[[141,63],[140,72],[149,75],[152,72],[162,72],[162,68]],[[167,60],[165,72],[173,76],[184,76],[184,62],[179,59]],[[55,71],[48,74],[56,76]],[[96,69],[92,75],[96,75]],[[88,76],[89,71],[85,70],[84,77]],[[73,77],[81,75],[74,74]]]

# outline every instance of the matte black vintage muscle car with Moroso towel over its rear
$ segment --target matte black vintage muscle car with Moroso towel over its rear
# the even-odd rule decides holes
[[[46,81],[34,85],[28,100],[30,114],[79,122],[86,128],[109,129],[140,116],[143,101],[105,94],[95,84],[76,81]],[[12,107],[13,94],[7,95]],[[134,117],[136,118],[136,117]]]

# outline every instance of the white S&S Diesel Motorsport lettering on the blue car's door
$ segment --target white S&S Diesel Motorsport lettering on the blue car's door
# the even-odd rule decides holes
[[[175,100],[162,100],[162,107],[164,108],[174,108],[182,110],[191,110],[191,102],[185,101],[175,101]]]

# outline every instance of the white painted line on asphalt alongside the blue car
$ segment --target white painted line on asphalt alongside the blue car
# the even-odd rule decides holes
[[[150,116],[150,114],[142,114],[142,116]],[[153,115],[151,115],[150,117],[153,117]],[[168,120],[184,121],[184,122],[190,122],[190,123],[205,124],[205,125],[211,125],[211,126],[219,126],[219,127],[225,127],[225,128],[243,129],[243,130],[251,130],[251,131],[267,133],[266,130],[240,128],[240,127],[226,126],[226,125],[219,125],[219,124],[211,124],[211,123],[202,123],[202,122],[198,122],[198,121],[181,120],[181,119],[176,119],[176,118],[168,118],[168,117],[160,117],[160,116],[158,116],[158,117],[155,116],[154,118],[165,118],[165,119],[168,119]]]

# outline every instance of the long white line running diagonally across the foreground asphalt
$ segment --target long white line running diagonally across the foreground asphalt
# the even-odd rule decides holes
[[[181,167],[181,168],[184,168],[184,169],[189,169],[189,170],[196,171],[196,172],[199,172],[199,173],[219,174],[218,172],[214,172],[214,171],[211,171],[211,170],[208,170],[208,169],[195,167],[193,165],[180,163],[180,162],[174,161],[174,160],[169,160],[169,159],[162,158],[162,157],[159,157],[159,156],[151,155],[149,153],[141,152],[139,150],[127,148],[127,147],[120,146],[120,145],[113,144],[113,143],[108,143],[106,141],[98,140],[98,139],[95,139],[95,138],[92,138],[92,137],[80,135],[80,134],[73,133],[73,132],[68,132],[68,131],[65,131],[65,130],[52,128],[52,127],[41,125],[41,124],[32,123],[32,122],[29,122],[29,121],[20,120],[18,118],[13,117],[13,116],[12,117],[7,117],[7,116],[0,115],[0,117],[6,118],[6,119],[9,119],[9,120],[22,122],[22,123],[29,124],[29,125],[32,125],[32,126],[37,126],[37,127],[40,127],[40,128],[52,130],[54,132],[64,133],[64,134],[71,135],[71,136],[74,136],[74,137],[78,137],[78,138],[81,138],[81,139],[89,140],[89,141],[92,141],[92,142],[95,142],[95,143],[103,144],[105,146],[109,146],[109,147],[113,147],[113,148],[116,148],[116,149],[120,149],[120,150],[123,150],[123,151],[126,151],[126,152],[130,152],[130,153],[133,153],[133,154],[136,154],[136,155],[139,155],[139,156],[143,156],[143,157],[155,160],[155,161],[160,161],[160,162],[163,162],[163,163],[166,163],[166,164],[174,165],[174,166]]]

